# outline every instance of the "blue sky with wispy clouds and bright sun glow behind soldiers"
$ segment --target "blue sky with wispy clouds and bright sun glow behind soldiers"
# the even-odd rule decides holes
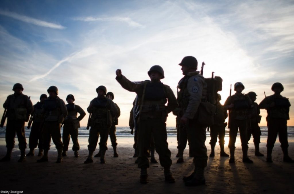
[[[183,77],[178,63],[192,55],[204,77],[223,78],[221,103],[230,84],[259,103],[281,82],[294,106],[294,1],[14,1],[0,4],[0,103],[19,82],[33,104],[51,85],[59,97],[73,94],[84,110],[104,85],[121,109],[118,126],[128,126],[136,94],[115,80],[116,69],[131,81],[148,79],[161,65],[162,82],[176,95]],[[199,67],[200,70],[200,67]],[[233,91],[232,91],[233,92]],[[0,108],[0,116],[3,114]],[[266,126],[262,110],[260,126]],[[81,121],[86,126],[88,113]],[[167,126],[175,126],[169,114]],[[290,107],[288,125],[294,125]]]

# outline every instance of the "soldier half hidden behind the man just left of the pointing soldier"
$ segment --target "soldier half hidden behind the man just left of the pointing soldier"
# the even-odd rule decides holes
[[[106,94],[107,98],[110,98],[111,100],[114,99],[114,94],[112,92],[107,92]],[[109,129],[109,136],[110,136],[110,141],[111,141],[111,146],[113,147],[113,157],[117,158],[118,154],[116,152],[116,125],[118,124],[118,117],[121,115],[121,110],[119,109],[118,105],[116,103],[114,103],[117,110],[118,110],[118,114],[114,117],[113,123]],[[94,157],[100,157],[101,156],[101,152],[99,150],[99,152],[94,156]]]

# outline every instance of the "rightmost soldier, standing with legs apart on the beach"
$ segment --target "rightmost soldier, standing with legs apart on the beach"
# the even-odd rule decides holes
[[[267,96],[260,102],[259,108],[266,109],[268,116],[266,117],[268,122],[268,140],[267,140],[267,162],[272,161],[272,151],[279,134],[279,140],[281,148],[284,153],[284,162],[293,163],[294,161],[288,155],[288,134],[287,134],[287,120],[289,120],[290,102],[288,98],[281,96],[284,87],[281,83],[276,82],[272,86],[274,95]]]

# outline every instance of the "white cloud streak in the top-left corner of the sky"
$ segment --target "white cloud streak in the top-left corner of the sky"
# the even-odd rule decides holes
[[[4,16],[7,16],[7,17],[14,18],[14,19],[19,20],[19,21],[23,21],[23,22],[26,22],[26,23],[31,23],[31,24],[34,24],[34,25],[37,25],[37,26],[43,26],[43,27],[54,28],[54,29],[59,29],[59,30],[62,30],[62,29],[66,28],[64,26],[61,26],[60,24],[51,23],[51,22],[47,22],[47,21],[43,21],[43,20],[38,20],[38,19],[31,18],[31,17],[28,17],[28,16],[16,14],[16,13],[10,12],[10,11],[0,10],[0,14],[4,15]]]

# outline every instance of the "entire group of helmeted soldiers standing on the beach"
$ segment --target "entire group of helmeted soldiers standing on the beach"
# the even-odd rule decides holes
[[[120,69],[116,70],[116,80],[126,90],[136,93],[133,109],[130,116],[130,128],[135,129],[135,154],[138,156],[136,163],[141,169],[140,182],[148,183],[147,168],[149,167],[149,155],[151,152],[151,162],[157,163],[154,158],[154,149],[159,155],[159,162],[164,168],[165,180],[174,183],[170,167],[172,165],[171,151],[168,149],[166,118],[168,113],[173,112],[177,116],[178,132],[178,160],[177,163],[184,162],[183,151],[187,141],[189,145],[189,156],[193,157],[194,171],[190,176],[184,177],[186,186],[204,185],[204,168],[207,166],[207,149],[205,146],[206,129],[209,126],[211,131],[211,153],[215,156],[214,148],[217,137],[219,138],[220,156],[229,157],[224,151],[225,119],[229,117],[229,163],[235,162],[235,141],[240,131],[241,146],[243,151],[243,162],[253,163],[248,158],[248,141],[253,134],[255,145],[255,155],[263,156],[259,151],[260,144],[260,109],[268,112],[268,141],[267,141],[267,162],[272,162],[271,153],[277,134],[284,153],[283,161],[294,162],[288,156],[288,136],[287,120],[289,120],[290,102],[282,97],[283,85],[274,83],[272,86],[273,95],[265,97],[258,105],[256,93],[249,92],[243,94],[244,85],[237,82],[234,85],[235,94],[230,95],[224,105],[220,104],[221,97],[217,95],[215,103],[211,104],[210,88],[206,79],[197,71],[198,62],[193,56],[186,56],[181,63],[184,77],[178,83],[178,94],[175,97],[168,85],[164,85],[161,79],[164,78],[163,68],[154,65],[148,71],[150,80],[142,82],[131,82]],[[19,161],[25,159],[26,139],[24,137],[24,122],[28,120],[28,115],[33,115],[34,122],[31,129],[29,148],[27,156],[34,155],[34,149],[39,139],[39,154],[43,157],[38,162],[48,161],[48,151],[50,148],[51,136],[58,151],[57,163],[62,161],[62,156],[66,156],[69,139],[72,137],[73,151],[76,157],[79,156],[78,128],[79,121],[85,116],[81,107],[74,104],[74,96],[68,95],[65,104],[58,97],[58,89],[55,86],[47,90],[49,97],[43,94],[40,102],[32,105],[28,96],[23,95],[21,84],[15,84],[14,94],[9,95],[3,105],[7,109],[6,125],[6,147],[7,154],[1,161],[9,161],[11,151],[14,147],[15,133],[19,139],[19,149],[21,157]],[[98,96],[91,102],[87,111],[90,113],[88,126],[89,131],[88,157],[84,163],[93,162],[93,152],[98,143],[100,135],[99,153],[94,157],[100,157],[101,163],[105,163],[105,153],[107,150],[108,134],[111,135],[114,157],[118,157],[116,152],[115,125],[118,124],[120,110],[113,102],[114,95],[106,91],[106,87],[99,86],[96,89]],[[166,104],[167,103],[167,104]],[[80,114],[77,117],[77,113]],[[60,128],[64,125],[63,141],[61,141]],[[88,127],[87,127],[88,128]],[[44,153],[43,153],[44,150]]]

